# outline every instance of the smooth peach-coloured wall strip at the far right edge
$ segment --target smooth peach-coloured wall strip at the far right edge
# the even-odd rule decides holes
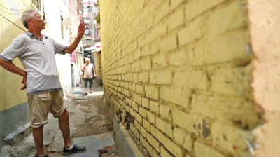
[[[248,0],[253,49],[253,97],[264,115],[256,157],[280,156],[280,1]]]

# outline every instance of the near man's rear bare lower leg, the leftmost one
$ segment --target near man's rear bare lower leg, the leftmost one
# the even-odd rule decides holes
[[[43,125],[38,128],[33,128],[33,138],[37,150],[37,155],[45,156],[45,151],[43,150]]]

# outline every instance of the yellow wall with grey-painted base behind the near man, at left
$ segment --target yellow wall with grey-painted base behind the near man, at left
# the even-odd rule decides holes
[[[20,13],[31,7],[31,1],[0,0],[0,53],[10,45],[16,36],[27,31],[20,20]],[[20,60],[13,64],[23,69]],[[0,147],[8,133],[30,121],[27,95],[22,87],[22,77],[0,67]]]

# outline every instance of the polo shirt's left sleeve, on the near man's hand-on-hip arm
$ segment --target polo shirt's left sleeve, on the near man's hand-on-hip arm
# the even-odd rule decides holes
[[[26,46],[25,40],[18,37],[10,43],[10,46],[3,50],[0,54],[0,57],[7,62],[12,62],[16,57],[20,57],[23,53],[25,53]]]

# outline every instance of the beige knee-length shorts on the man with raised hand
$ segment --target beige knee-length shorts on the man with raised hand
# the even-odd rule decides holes
[[[48,123],[48,113],[58,118],[66,106],[63,102],[63,91],[55,90],[28,96],[31,127],[38,128]]]

